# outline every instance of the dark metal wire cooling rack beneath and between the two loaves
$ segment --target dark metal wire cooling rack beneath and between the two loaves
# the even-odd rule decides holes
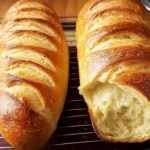
[[[77,16],[61,16],[76,18]],[[0,22],[3,17],[0,17]],[[62,22],[69,45],[70,76],[66,103],[60,117],[58,128],[47,144],[40,150],[150,150],[150,141],[145,143],[108,143],[99,139],[92,127],[87,106],[79,95],[79,75],[75,40],[75,21]],[[0,136],[0,150],[14,150]]]

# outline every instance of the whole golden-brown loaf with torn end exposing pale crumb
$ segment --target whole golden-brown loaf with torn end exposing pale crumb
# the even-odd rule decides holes
[[[77,21],[80,93],[99,137],[150,139],[150,16],[140,0],[90,0]]]

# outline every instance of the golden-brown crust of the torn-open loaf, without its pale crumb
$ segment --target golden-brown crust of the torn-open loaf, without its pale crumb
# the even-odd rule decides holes
[[[122,90],[130,87],[150,101],[150,14],[139,0],[89,0],[79,13],[76,37],[79,90],[97,135],[111,142],[148,140],[150,135],[134,140],[102,134],[98,104],[90,96],[96,85],[110,83]]]

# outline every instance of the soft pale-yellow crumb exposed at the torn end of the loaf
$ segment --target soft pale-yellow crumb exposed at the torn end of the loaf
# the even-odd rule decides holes
[[[150,103],[134,89],[99,82],[84,95],[101,137],[121,142],[150,137]]]

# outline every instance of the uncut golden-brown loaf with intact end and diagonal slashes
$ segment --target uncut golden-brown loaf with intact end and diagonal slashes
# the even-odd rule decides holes
[[[68,86],[68,47],[43,0],[21,0],[0,31],[0,133],[18,150],[43,146],[56,129]]]

